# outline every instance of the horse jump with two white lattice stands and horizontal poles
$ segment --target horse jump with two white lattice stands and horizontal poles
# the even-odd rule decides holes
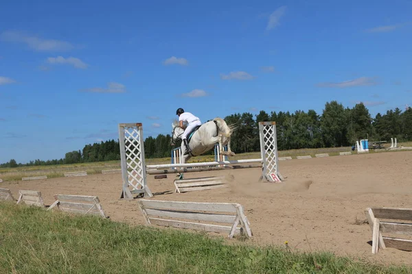
[[[209,123],[214,123],[213,121]],[[280,182],[282,175],[278,169],[277,158],[277,138],[275,122],[260,122],[260,155],[259,159],[215,161],[201,163],[185,163],[184,161],[176,164],[154,164],[147,165],[144,157],[144,136],[142,123],[120,123],[119,124],[119,145],[122,160],[122,194],[121,199],[133,199],[133,194],[148,195],[152,197],[152,192],[148,188],[146,169],[172,169],[178,167],[201,168],[207,166],[219,166],[222,164],[245,164],[252,162],[262,163],[262,175],[260,180],[266,182]],[[223,145],[226,145],[223,143]],[[214,147],[214,144],[211,148]],[[229,146],[228,146],[229,147]],[[210,149],[211,149],[210,148]],[[222,147],[220,147],[222,148]],[[193,149],[192,149],[193,151]],[[228,148],[228,153],[229,152]],[[222,154],[222,153],[221,153]],[[186,155],[187,156],[187,155]],[[130,190],[129,186],[132,188]]]

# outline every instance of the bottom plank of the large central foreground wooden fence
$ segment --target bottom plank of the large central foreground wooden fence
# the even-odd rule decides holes
[[[157,219],[157,218],[149,218],[150,223],[152,225],[161,225],[165,227],[176,227],[176,228],[183,228],[183,229],[194,229],[194,230],[201,230],[205,232],[216,232],[216,233],[229,233],[231,227],[223,226],[223,225],[209,225],[204,223],[190,223],[190,222],[183,222],[183,221],[174,221],[174,220],[165,220],[165,219]],[[240,233],[240,228],[236,228],[236,234]]]

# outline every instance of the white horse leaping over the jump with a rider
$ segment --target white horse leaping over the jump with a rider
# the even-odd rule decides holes
[[[185,131],[179,127],[179,121],[175,120],[172,123],[172,140],[171,144],[174,145],[177,139],[181,138],[181,135]],[[225,120],[221,118],[215,118],[212,121],[204,123],[194,132],[192,138],[187,138],[189,141],[189,147],[192,149],[192,153],[184,155],[186,151],[185,144],[182,142],[182,162],[186,163],[192,156],[198,156],[206,151],[214,148],[216,143],[219,143],[219,149],[221,155],[234,156],[235,153],[230,149],[230,138],[233,133],[233,125],[229,126]],[[189,136],[187,136],[189,137]],[[227,151],[223,151],[223,146],[227,145]]]

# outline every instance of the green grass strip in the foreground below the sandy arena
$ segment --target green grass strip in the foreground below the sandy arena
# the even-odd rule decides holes
[[[177,229],[132,227],[0,203],[0,273],[411,273],[331,253],[225,244]]]

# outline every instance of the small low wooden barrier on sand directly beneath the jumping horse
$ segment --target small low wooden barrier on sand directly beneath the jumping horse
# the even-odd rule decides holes
[[[213,188],[224,188],[227,185],[223,182],[225,176],[219,177],[203,177],[191,179],[176,179],[174,180],[175,192],[189,192],[198,190],[207,190]]]

